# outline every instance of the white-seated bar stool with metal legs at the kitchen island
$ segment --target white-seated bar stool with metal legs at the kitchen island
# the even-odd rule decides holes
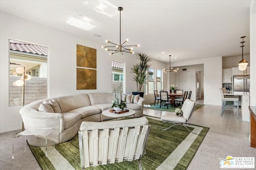
[[[225,110],[234,110],[235,107],[237,107],[237,119],[238,119],[238,111],[239,111],[239,105],[238,105],[238,101],[239,101],[239,98],[226,98],[224,96],[224,92],[223,92],[223,89],[220,88],[220,94],[221,94],[221,98],[222,98],[222,104],[221,104],[221,114],[222,115],[224,113]],[[233,104],[229,104],[229,103],[226,103],[226,102],[233,102]],[[237,102],[237,106],[234,106],[234,102]]]

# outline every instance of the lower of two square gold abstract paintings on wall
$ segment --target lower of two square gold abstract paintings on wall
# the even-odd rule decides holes
[[[96,89],[96,70],[76,68],[76,90]]]

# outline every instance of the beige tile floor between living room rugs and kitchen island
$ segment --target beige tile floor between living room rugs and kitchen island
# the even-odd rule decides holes
[[[202,101],[197,100],[197,103],[202,104]],[[249,141],[250,123],[242,121],[241,108],[239,108],[239,119],[236,117],[236,109],[227,110],[222,116],[220,109],[221,106],[206,104],[194,111],[188,123],[210,127],[209,131],[212,133]],[[144,115],[161,117],[161,113],[162,111],[144,108]]]

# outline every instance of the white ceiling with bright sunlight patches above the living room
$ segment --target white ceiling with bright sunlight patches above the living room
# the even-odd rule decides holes
[[[3,12],[102,45],[106,45],[106,39],[119,44],[119,6],[123,7],[121,43],[128,38],[127,45],[140,44],[134,47],[135,53],[146,53],[166,63],[169,55],[172,55],[172,62],[241,56],[240,37],[246,36],[244,55],[250,54],[250,0],[0,1]],[[78,28],[69,24],[71,21],[78,22],[79,27],[85,23],[91,27]]]

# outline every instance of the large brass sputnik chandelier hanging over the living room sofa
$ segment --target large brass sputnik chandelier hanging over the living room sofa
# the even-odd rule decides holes
[[[132,51],[132,47],[140,46],[140,45],[124,45],[124,43],[126,43],[128,41],[128,39],[126,39],[124,41],[124,43],[121,44],[121,11],[122,10],[123,10],[122,7],[118,7],[118,11],[120,11],[120,43],[119,43],[119,45],[106,40],[106,43],[111,43],[111,44],[113,44],[113,46],[102,46],[102,48],[106,48],[106,51],[114,51],[114,52],[110,53],[110,55],[112,55],[114,53],[118,53],[118,52],[120,52],[122,55],[124,55],[123,52],[133,54],[134,52]],[[108,47],[115,47],[115,48],[109,49]]]

